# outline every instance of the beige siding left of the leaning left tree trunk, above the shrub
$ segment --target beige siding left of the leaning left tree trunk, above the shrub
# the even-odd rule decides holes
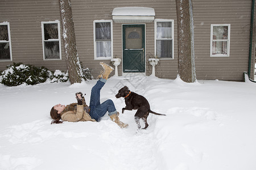
[[[13,62],[67,70],[64,56],[61,61],[43,60],[41,22],[60,20],[58,1],[0,1],[0,16],[0,22],[10,23]],[[0,70],[13,62],[0,62]]]

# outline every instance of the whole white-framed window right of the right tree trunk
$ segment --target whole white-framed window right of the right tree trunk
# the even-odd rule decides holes
[[[210,57],[229,57],[230,24],[210,26]]]

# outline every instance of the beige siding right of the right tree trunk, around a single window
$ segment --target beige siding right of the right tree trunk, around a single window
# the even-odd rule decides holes
[[[194,0],[197,79],[243,80],[247,71],[251,1]],[[229,57],[210,57],[210,24],[230,24]]]

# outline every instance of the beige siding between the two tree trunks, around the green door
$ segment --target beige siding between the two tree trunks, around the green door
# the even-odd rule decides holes
[[[94,61],[93,20],[112,19],[113,8],[125,6],[152,7],[155,9],[155,18],[174,19],[175,17],[176,19],[176,11],[170,11],[170,6],[173,6],[174,10],[176,9],[175,2],[171,1],[159,1],[157,3],[152,0],[108,1],[104,5],[102,5],[102,1],[72,1],[72,12],[75,23],[77,50],[79,52],[80,61],[82,61],[82,63],[84,63],[85,66],[87,66],[86,63],[89,62],[89,66],[87,67],[90,67],[94,70],[94,76],[97,76],[99,72],[98,70],[101,70],[101,66],[98,64],[100,61]],[[146,75],[150,75],[152,66],[148,63],[148,57],[154,56],[155,53],[154,22],[146,23],[145,29]],[[117,58],[122,58],[122,23],[113,22],[113,56]],[[111,64],[110,60],[104,62]],[[158,66],[156,66],[156,75],[163,75],[165,78],[176,78],[177,69],[175,69],[173,73],[171,72],[173,67],[177,68],[176,65],[177,61],[164,61],[164,63],[162,63],[164,69],[161,69],[161,71],[159,71]],[[112,73],[112,75],[113,74],[114,73]],[[122,75],[122,64],[118,66],[118,74]]]

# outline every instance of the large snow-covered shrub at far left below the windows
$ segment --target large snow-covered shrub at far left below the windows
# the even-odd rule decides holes
[[[46,82],[50,71],[45,67],[35,67],[24,65],[23,63],[14,63],[6,67],[2,72],[1,83],[6,86],[19,86],[20,84],[38,84]]]

